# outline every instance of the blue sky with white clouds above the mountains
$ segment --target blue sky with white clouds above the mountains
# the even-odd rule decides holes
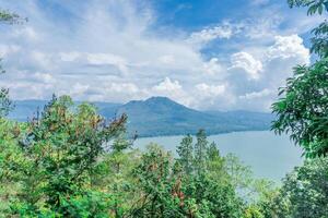
[[[269,111],[309,64],[323,16],[286,0],[0,0],[0,86],[13,99],[127,102],[165,96],[199,110]]]

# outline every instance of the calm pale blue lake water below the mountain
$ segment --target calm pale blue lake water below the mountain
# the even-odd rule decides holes
[[[175,152],[183,136],[145,137],[136,141],[134,146],[144,148],[156,143]],[[250,166],[257,178],[266,178],[279,182],[285,173],[302,164],[302,150],[288,136],[278,136],[269,131],[236,132],[211,135],[210,142],[219,145],[223,155],[233,153],[245,165]]]

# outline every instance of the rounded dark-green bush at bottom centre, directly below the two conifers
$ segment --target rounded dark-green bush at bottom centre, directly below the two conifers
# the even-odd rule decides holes
[[[185,217],[239,218],[244,203],[232,184],[216,181],[209,174],[183,180]]]

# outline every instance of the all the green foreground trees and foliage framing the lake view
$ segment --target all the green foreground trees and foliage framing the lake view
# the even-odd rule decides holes
[[[328,7],[289,3],[309,14]],[[0,22],[16,19],[0,11]],[[30,122],[13,122],[2,89],[0,217],[328,217],[327,24],[314,34],[318,60],[295,68],[272,106],[272,129],[290,133],[308,157],[280,187],[222,156],[203,130],[184,137],[176,157],[154,144],[141,152],[127,140],[125,114],[107,121],[93,105],[54,96]]]

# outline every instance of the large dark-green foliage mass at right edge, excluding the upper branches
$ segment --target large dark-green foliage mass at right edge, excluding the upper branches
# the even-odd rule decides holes
[[[290,133],[307,157],[328,154],[328,59],[296,66],[280,95],[273,130]]]

